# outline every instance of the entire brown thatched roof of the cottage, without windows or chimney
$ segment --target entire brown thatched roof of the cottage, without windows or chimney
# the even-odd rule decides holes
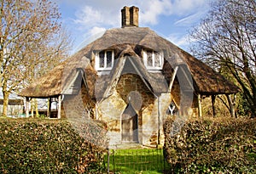
[[[150,73],[143,65],[141,55],[142,49],[164,51],[165,65],[162,73]],[[115,62],[109,76],[97,76],[93,68],[96,51],[113,49]],[[127,55],[129,58],[127,59]],[[91,97],[99,95],[108,97],[111,93],[113,83],[119,78],[121,71],[126,70],[125,65],[136,65],[137,73],[150,90],[160,93],[166,91],[166,84],[160,81],[168,81],[172,76],[172,70],[177,65],[186,66],[193,77],[195,91],[202,94],[236,93],[238,88],[227,81],[212,68],[205,65],[189,53],[184,52],[172,42],[158,36],[154,31],[145,27],[125,27],[110,29],[95,42],[91,42],[75,53],[71,58],[51,70],[46,76],[38,79],[29,87],[26,87],[20,96],[46,98],[65,94],[64,89],[69,87],[72,79],[77,76],[77,70],[84,70],[85,83],[88,83],[88,90]],[[131,66],[132,67],[132,66]],[[108,81],[108,82],[105,82]],[[161,85],[160,85],[161,84]],[[96,87],[96,88],[95,88]]]

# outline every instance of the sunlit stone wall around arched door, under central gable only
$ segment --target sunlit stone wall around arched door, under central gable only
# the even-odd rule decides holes
[[[129,99],[130,98],[130,99]],[[140,76],[120,76],[113,95],[99,104],[100,118],[108,123],[112,143],[121,143],[121,115],[127,104],[131,104],[138,115],[138,141],[155,144],[157,136],[157,108],[154,94],[148,90]]]

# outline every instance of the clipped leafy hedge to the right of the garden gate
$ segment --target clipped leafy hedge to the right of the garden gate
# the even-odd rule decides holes
[[[256,119],[177,117],[166,121],[164,131],[164,154],[174,173],[256,173]]]

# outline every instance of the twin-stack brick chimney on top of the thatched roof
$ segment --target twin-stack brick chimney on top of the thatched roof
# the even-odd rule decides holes
[[[121,9],[122,13],[122,28],[126,26],[138,26],[138,11],[139,8],[132,6]]]

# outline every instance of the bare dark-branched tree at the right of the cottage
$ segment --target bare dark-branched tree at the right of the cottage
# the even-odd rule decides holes
[[[233,80],[256,115],[256,2],[216,0],[191,31],[191,51]]]

